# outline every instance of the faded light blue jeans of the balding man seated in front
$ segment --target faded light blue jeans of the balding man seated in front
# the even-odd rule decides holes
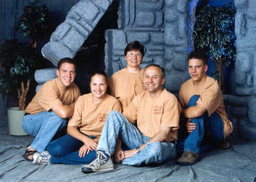
[[[102,130],[98,150],[112,155],[115,151],[117,137],[129,148],[129,150],[147,143],[150,137],[144,136],[123,114],[118,111],[110,111]],[[171,142],[147,143],[139,154],[124,159],[122,164],[140,166],[141,164],[162,163],[176,157],[176,146]]]

